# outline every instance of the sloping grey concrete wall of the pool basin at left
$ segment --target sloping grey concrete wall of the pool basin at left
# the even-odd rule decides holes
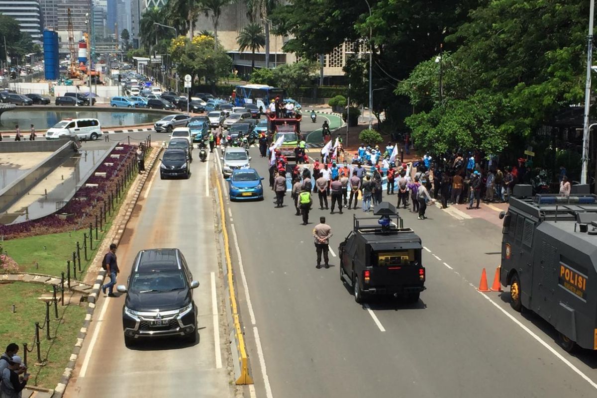
[[[14,149],[14,145],[8,144],[21,144],[20,151],[24,150],[34,150],[32,147],[42,147],[44,144],[50,144],[48,141],[35,141],[35,144],[29,143],[29,141],[13,141],[2,143],[0,146],[0,151],[2,152],[9,152],[5,150],[5,148]],[[29,144],[32,144],[29,146]],[[39,144],[39,146],[38,146]],[[73,149],[73,141],[70,140],[58,140],[54,144],[60,144],[60,147],[48,156],[48,158],[44,159],[41,163],[35,166],[30,171],[26,172],[25,174],[21,175],[17,180],[13,181],[13,183],[9,184],[3,190],[0,191],[0,212],[7,211],[13,203],[15,203],[24,193],[28,192],[32,189],[35,184],[45,178],[50,172],[52,172],[57,166],[61,165],[64,162],[64,159],[69,158],[75,152]],[[12,152],[20,152],[20,151],[12,151]]]

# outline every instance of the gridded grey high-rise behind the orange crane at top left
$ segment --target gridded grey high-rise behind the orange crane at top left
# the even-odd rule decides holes
[[[44,16],[44,27],[53,30],[67,30],[67,13],[70,8],[70,15],[73,22],[73,30],[87,32],[85,21],[91,14],[90,0],[40,0],[42,15]]]

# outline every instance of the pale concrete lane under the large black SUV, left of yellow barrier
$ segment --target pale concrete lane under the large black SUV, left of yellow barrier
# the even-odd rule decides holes
[[[208,163],[213,166],[214,161],[210,156]],[[207,196],[208,163],[195,160],[189,180],[160,180],[158,172],[141,194],[144,198],[137,204],[117,252],[121,268],[118,283],[125,283],[139,250],[181,249],[193,278],[200,283],[194,291],[198,342],[188,345],[168,338],[126,348],[122,333],[124,297],[104,298],[100,294],[67,397],[182,397],[188,391],[201,391],[203,397],[221,398],[232,393],[221,317],[216,316],[214,323],[214,301],[221,314],[222,297],[213,194]]]

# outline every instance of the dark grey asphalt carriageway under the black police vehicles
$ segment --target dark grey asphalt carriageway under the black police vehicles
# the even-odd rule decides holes
[[[267,162],[256,149],[252,156],[267,178]],[[491,284],[500,264],[495,224],[435,206],[427,220],[401,210],[426,247],[427,290],[417,304],[361,306],[340,282],[337,257],[315,269],[312,229],[327,217],[338,254],[362,211],[330,215],[314,203],[301,226],[290,195],[282,209],[273,198],[267,190],[261,202],[226,203],[257,397],[595,397],[595,353],[565,353],[540,317],[510,309],[509,294],[476,291],[482,267]]]

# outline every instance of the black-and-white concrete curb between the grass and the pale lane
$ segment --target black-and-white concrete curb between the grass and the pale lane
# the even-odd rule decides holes
[[[137,201],[139,200],[139,196],[141,195],[141,190],[143,190],[143,187],[147,181],[149,172],[152,170],[161,152],[162,148],[160,147],[153,153],[153,155],[151,155],[152,157],[149,159],[148,162],[146,162],[145,172],[133,181],[133,184],[131,185],[127,193],[127,197],[128,195],[132,196],[130,197],[128,203],[126,203],[120,208],[118,215],[116,215],[117,219],[118,216],[121,214],[124,215],[124,217],[120,218],[118,224],[112,224],[112,227],[110,227],[110,230],[104,237],[104,240],[100,245],[100,248],[97,250],[96,257],[94,258],[91,264],[99,263],[100,258],[103,257],[104,252],[106,251],[107,245],[109,245],[110,243],[116,243],[116,245],[118,245],[118,243],[120,243],[122,235],[124,234],[124,231],[127,227],[128,221],[130,220],[131,215],[133,214],[133,208],[137,205]],[[90,265],[90,269],[88,271],[91,270],[92,265]],[[64,390],[66,390],[67,384],[69,384],[69,380],[72,376],[73,369],[75,369],[76,360],[78,359],[79,352],[81,351],[83,341],[85,340],[87,332],[89,331],[91,319],[93,317],[94,310],[96,309],[97,298],[99,297],[101,285],[105,277],[106,270],[101,269],[101,267],[99,267],[99,270],[97,270],[96,279],[93,284],[93,289],[91,290],[91,293],[87,298],[87,315],[85,315],[85,320],[77,335],[75,346],[73,347],[72,354],[70,354],[70,360],[67,363],[66,368],[64,368],[64,373],[62,374],[60,382],[56,385],[56,388],[54,388],[54,394],[52,396],[53,398],[62,397],[62,395],[64,394]]]

